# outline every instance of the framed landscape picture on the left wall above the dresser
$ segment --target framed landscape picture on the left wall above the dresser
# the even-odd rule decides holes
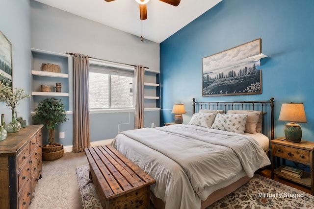
[[[12,85],[12,44],[0,31],[0,79]]]

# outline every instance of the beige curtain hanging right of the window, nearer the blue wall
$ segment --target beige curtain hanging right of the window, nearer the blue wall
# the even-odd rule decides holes
[[[134,129],[144,127],[144,67],[134,68]]]

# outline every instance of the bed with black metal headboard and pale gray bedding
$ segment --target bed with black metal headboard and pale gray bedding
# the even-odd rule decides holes
[[[232,102],[193,99],[192,107],[187,125],[124,131],[112,141],[156,180],[151,199],[157,209],[205,209],[270,164],[267,153],[269,139],[274,138],[273,98]],[[258,118],[252,119],[257,112]]]

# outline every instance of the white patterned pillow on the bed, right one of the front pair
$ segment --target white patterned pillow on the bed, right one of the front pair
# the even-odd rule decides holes
[[[211,128],[243,134],[247,115],[218,113]]]

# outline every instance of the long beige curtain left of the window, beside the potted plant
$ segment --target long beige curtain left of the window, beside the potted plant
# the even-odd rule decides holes
[[[89,121],[89,59],[88,55],[74,54],[73,72],[73,152],[90,147]]]

